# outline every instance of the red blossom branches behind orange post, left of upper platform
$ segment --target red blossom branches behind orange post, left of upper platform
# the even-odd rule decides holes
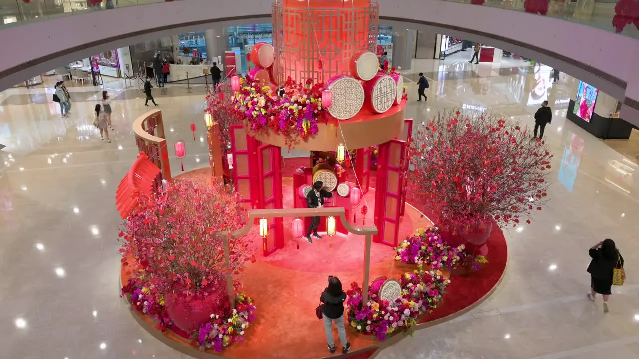
[[[243,117],[235,111],[232,103],[233,91],[231,84],[222,82],[216,88],[212,88],[209,95],[206,95],[206,111],[211,114],[213,121],[219,128],[220,144],[222,153],[226,155],[231,147],[231,125],[242,124]]]

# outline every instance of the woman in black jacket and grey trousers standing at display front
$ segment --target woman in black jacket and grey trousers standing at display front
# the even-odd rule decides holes
[[[333,322],[337,325],[339,340],[342,342],[342,353],[346,354],[351,349],[351,344],[346,340],[346,328],[344,327],[344,301],[346,293],[342,289],[342,282],[332,275],[328,276],[328,287],[324,289],[319,301],[322,305],[322,316],[324,318],[324,328],[326,339],[328,340],[328,350],[335,353],[335,339],[333,339]]]

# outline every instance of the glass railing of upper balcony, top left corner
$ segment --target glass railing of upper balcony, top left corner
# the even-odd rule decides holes
[[[0,29],[91,11],[164,2],[165,0],[0,0],[0,17],[4,20],[0,22]]]

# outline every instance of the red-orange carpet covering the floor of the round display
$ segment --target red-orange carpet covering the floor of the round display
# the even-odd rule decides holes
[[[289,176],[307,158],[286,158],[282,176]],[[197,171],[197,170],[196,170]],[[206,174],[206,171],[185,173],[185,177]],[[371,187],[374,188],[374,176]],[[284,178],[284,207],[292,206],[291,179]],[[374,192],[367,195],[369,206],[374,208]],[[288,198],[288,199],[287,199]],[[426,208],[422,208],[426,210]],[[431,217],[432,213],[426,213]],[[431,217],[433,218],[433,217]],[[359,218],[358,218],[359,219]],[[314,315],[319,295],[327,286],[328,275],[339,277],[344,287],[355,281],[362,283],[364,266],[364,240],[362,236],[338,234],[332,240],[324,239],[309,244],[291,238],[291,220],[285,218],[285,247],[268,257],[261,250],[256,252],[256,263],[248,264],[242,282],[243,291],[254,299],[257,307],[256,322],[245,337],[247,341],[224,349],[222,356],[232,358],[305,359],[331,356],[326,348],[323,323]],[[402,236],[412,234],[419,227],[431,225],[418,211],[406,207],[406,216],[401,223]],[[255,238],[256,247],[261,248],[261,238]],[[297,249],[299,244],[299,249]],[[331,245],[332,244],[332,245]],[[428,314],[420,323],[433,321],[454,314],[480,300],[498,283],[505,270],[507,250],[504,236],[497,231],[488,242],[489,263],[480,271],[470,275],[454,276],[443,304]],[[123,268],[123,282],[126,282]],[[394,267],[393,249],[379,243],[371,248],[371,281],[380,275],[399,277],[404,270]],[[399,334],[403,335],[403,334]],[[174,335],[173,340],[180,340]],[[339,347],[337,332],[334,337]],[[359,335],[348,330],[353,346],[349,358],[366,359],[376,348],[385,343],[370,336]],[[394,338],[396,339],[396,338]],[[184,341],[184,340],[182,340]],[[395,341],[395,340],[392,340]],[[208,354],[208,353],[207,353]],[[211,357],[215,357],[211,353]],[[340,356],[339,353],[332,357]]]

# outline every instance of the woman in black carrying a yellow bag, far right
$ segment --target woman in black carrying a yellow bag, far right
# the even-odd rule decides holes
[[[603,311],[607,313],[613,269],[621,268],[622,279],[626,279],[624,257],[619,254],[615,242],[610,238],[590,247],[588,254],[592,260],[586,270],[590,273],[590,291],[586,293],[586,296],[594,302],[596,294],[601,294]]]

